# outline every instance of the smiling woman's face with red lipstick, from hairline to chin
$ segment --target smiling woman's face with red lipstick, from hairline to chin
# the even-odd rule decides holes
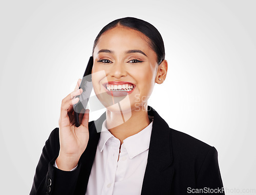
[[[145,35],[133,29],[115,27],[100,36],[93,59],[94,91],[108,110],[119,111],[117,104],[113,105],[118,101],[121,101],[123,112],[146,109],[148,97],[158,80],[158,65],[157,55]],[[99,71],[104,74],[94,75]]]

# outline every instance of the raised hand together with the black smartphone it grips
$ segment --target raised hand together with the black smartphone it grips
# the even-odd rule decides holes
[[[90,75],[91,68],[93,64],[93,58],[91,57],[88,63],[88,67],[84,75]],[[84,78],[83,78],[84,79]],[[88,123],[89,123],[89,110],[86,110],[81,118],[81,126],[79,123],[79,113],[77,112],[77,119],[76,123],[79,123],[79,126],[75,126],[74,120],[76,117],[76,112],[74,110],[74,105],[80,101],[78,98],[74,98],[75,96],[80,96],[80,99],[89,97],[88,95],[90,89],[90,85],[86,85],[87,82],[91,82],[90,77],[87,80],[79,79],[75,90],[67,95],[61,102],[61,109],[60,109],[60,117],[59,117],[59,143],[60,143],[60,150],[59,155],[56,159],[56,164],[59,169],[61,170],[71,170],[73,169],[84,152],[87,148],[88,140],[89,140],[89,130],[88,130]],[[87,95],[83,96],[82,90],[79,90],[84,86],[84,83],[87,87],[83,89],[83,92],[88,90]],[[80,87],[79,87],[80,86]],[[91,92],[90,92],[91,93]],[[85,98],[87,99],[87,98]],[[88,102],[88,101],[87,101]],[[82,102],[80,102],[82,104]],[[83,102],[84,103],[84,102]],[[83,108],[83,106],[82,106]],[[86,108],[86,105],[85,107]],[[76,108],[76,111],[79,111],[80,107]],[[73,115],[74,113],[74,115]]]

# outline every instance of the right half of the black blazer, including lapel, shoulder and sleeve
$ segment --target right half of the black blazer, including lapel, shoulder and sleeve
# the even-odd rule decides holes
[[[148,115],[154,116],[154,122],[141,194],[186,194],[188,187],[223,187],[214,147],[169,128],[150,106]]]

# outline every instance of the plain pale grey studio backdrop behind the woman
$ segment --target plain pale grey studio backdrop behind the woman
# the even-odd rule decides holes
[[[165,43],[167,78],[148,105],[169,127],[216,147],[226,188],[255,189],[255,6],[1,1],[0,193],[29,193],[42,147],[58,127],[61,100],[82,78],[96,35],[126,16],[152,23]]]

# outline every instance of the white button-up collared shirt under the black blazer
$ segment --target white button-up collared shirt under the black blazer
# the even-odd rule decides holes
[[[106,129],[104,120],[86,195],[141,194],[153,126],[150,118],[150,125],[123,140],[120,154],[120,140]]]

